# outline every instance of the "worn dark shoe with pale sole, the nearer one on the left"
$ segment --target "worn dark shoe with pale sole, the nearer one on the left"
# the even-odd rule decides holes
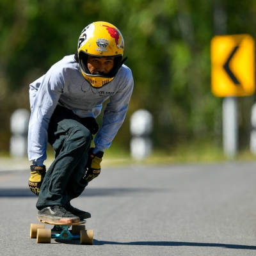
[[[38,211],[37,214],[38,220],[45,220],[51,222],[60,222],[60,223],[72,223],[79,222],[80,218],[68,212],[61,205],[52,205]]]

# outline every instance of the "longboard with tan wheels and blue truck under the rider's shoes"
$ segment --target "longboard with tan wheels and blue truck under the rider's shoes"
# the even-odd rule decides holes
[[[54,225],[45,228],[44,224],[30,225],[30,238],[36,238],[37,243],[51,243],[51,238],[55,239],[80,239],[80,244],[93,244],[93,230],[86,230],[86,220],[74,223],[56,223],[51,221],[38,220],[42,223]],[[71,229],[69,229],[71,227]]]

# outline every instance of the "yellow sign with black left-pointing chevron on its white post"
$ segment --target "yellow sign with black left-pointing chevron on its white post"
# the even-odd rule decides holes
[[[255,93],[255,42],[250,35],[214,36],[211,41],[211,90],[223,97],[223,148],[237,152],[237,98]]]

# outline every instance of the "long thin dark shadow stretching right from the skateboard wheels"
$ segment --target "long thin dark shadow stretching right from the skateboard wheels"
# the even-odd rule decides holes
[[[243,249],[243,250],[256,250],[256,246],[241,245],[241,244],[215,244],[215,243],[189,243],[189,242],[167,242],[167,241],[141,241],[141,242],[129,242],[129,243],[118,243],[111,241],[98,241],[93,239],[93,245],[144,245],[144,246],[195,246],[195,247],[220,247],[226,249]]]

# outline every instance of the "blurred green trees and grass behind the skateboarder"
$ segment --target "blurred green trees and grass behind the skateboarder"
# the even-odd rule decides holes
[[[0,13],[0,156],[10,156],[13,111],[29,110],[29,83],[76,52],[85,26],[104,20],[124,36],[125,65],[134,76],[127,118],[106,156],[129,159],[130,117],[147,109],[154,120],[147,161],[226,159],[210,43],[214,35],[255,38],[255,0],[1,0]],[[255,95],[237,102],[236,159],[256,159],[249,148]]]

